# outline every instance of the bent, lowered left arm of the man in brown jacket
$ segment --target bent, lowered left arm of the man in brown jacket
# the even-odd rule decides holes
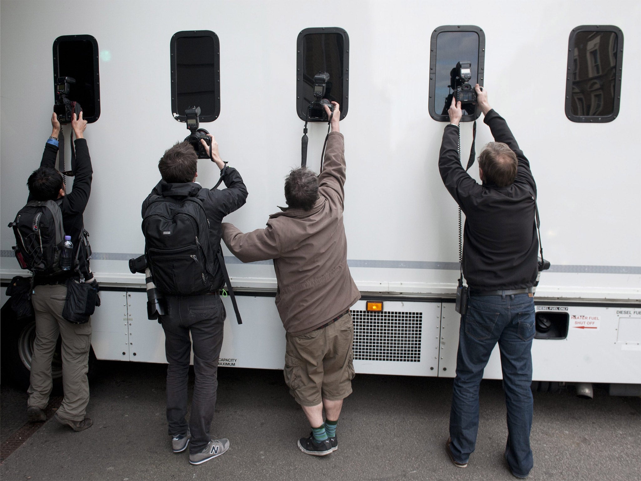
[[[280,257],[280,244],[274,228],[242,233],[236,226],[222,223],[222,240],[228,249],[242,262],[276,259]]]

